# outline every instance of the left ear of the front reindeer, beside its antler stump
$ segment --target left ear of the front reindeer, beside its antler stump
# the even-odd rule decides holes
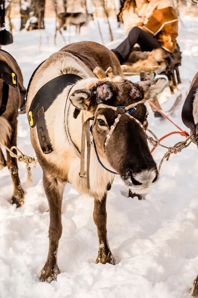
[[[69,100],[77,109],[88,110],[91,97],[92,92],[89,89],[79,89],[69,96]]]

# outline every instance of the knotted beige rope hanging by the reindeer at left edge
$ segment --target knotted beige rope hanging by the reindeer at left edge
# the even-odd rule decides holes
[[[17,161],[23,161],[24,163],[26,163],[26,169],[27,169],[27,184],[30,184],[32,183],[32,174],[31,174],[31,165],[34,164],[34,168],[36,167],[36,164],[37,164],[37,159],[35,159],[34,157],[30,157],[28,155],[25,155],[21,152],[20,149],[18,149],[16,146],[12,146],[10,149],[5,146],[1,141],[0,141],[0,145],[2,145],[8,152],[9,152],[9,155],[11,157],[14,157],[17,159]],[[13,152],[13,150],[16,150],[16,152],[19,152],[19,155],[18,154],[15,154]]]

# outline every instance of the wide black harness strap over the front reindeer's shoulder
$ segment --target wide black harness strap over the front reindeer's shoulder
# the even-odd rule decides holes
[[[66,86],[75,84],[80,79],[82,78],[76,74],[57,76],[43,85],[32,100],[28,112],[28,120],[32,128],[37,126],[39,143],[45,154],[53,151],[46,126],[45,112]]]

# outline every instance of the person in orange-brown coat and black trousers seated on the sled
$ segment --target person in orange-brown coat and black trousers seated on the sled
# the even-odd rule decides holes
[[[136,0],[138,2],[139,0]],[[142,1],[142,0],[141,0]],[[163,48],[173,53],[178,35],[178,16],[172,0],[150,0],[143,23],[137,24],[128,37],[112,52],[122,64],[127,60],[134,45],[142,51]]]

